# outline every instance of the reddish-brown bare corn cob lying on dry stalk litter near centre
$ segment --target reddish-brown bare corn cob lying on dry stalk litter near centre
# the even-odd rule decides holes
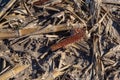
[[[72,36],[70,36],[70,37],[68,37],[68,38],[66,38],[64,40],[61,40],[60,42],[58,42],[58,43],[56,43],[54,45],[52,45],[50,47],[50,49],[52,51],[55,51],[57,49],[60,49],[62,47],[67,46],[68,44],[71,44],[71,43],[74,43],[76,41],[79,41],[79,40],[81,40],[85,36],[85,28],[78,29],[77,32],[78,33],[76,33],[76,34],[74,34],[74,35],[72,35]]]

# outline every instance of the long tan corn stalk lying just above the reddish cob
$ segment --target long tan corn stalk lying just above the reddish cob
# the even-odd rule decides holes
[[[8,38],[16,38],[19,36],[25,36],[30,34],[45,34],[45,33],[52,33],[52,32],[59,32],[73,29],[73,27],[67,26],[66,24],[61,25],[49,25],[43,29],[39,27],[33,28],[23,28],[18,31],[0,31],[0,39],[8,39]]]

